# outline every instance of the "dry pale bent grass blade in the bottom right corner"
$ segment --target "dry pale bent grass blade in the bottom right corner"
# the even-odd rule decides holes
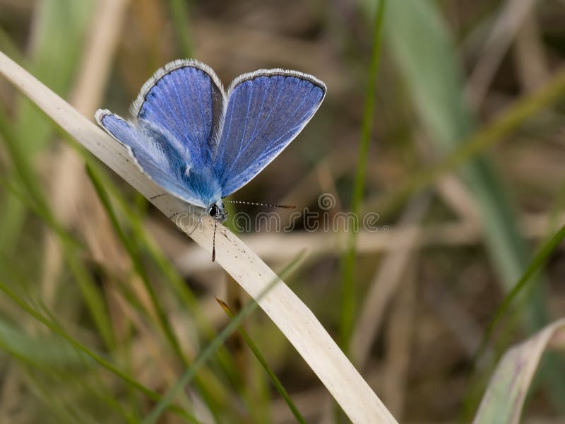
[[[565,318],[507,351],[492,375],[473,423],[519,423],[525,396],[547,348],[565,348]]]

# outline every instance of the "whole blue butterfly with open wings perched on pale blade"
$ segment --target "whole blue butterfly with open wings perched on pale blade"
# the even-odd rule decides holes
[[[224,199],[289,143],[318,110],[326,84],[298,71],[244,73],[225,90],[210,66],[172,61],[143,85],[131,119],[95,118],[165,192],[227,219]]]

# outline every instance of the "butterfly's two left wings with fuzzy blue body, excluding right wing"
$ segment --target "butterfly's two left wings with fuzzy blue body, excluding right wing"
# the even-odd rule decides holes
[[[214,71],[194,60],[173,61],[147,81],[131,107],[134,123],[106,110],[97,121],[128,146],[145,174],[197,206],[220,199],[211,160],[225,94]]]

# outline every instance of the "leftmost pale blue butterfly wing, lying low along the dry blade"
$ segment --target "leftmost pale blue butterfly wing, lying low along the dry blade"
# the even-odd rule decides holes
[[[131,124],[112,114],[109,110],[98,110],[96,120],[108,134],[126,146],[137,165],[155,183],[172,195],[196,206],[207,206],[201,193],[186,181],[187,164],[168,139],[172,136],[150,122],[140,120]]]

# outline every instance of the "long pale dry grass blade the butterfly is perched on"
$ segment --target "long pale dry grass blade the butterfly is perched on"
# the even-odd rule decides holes
[[[162,194],[162,189],[138,170],[124,148],[3,53],[0,53],[0,73],[162,213],[169,218],[186,218],[189,228],[198,225],[197,214],[187,213],[189,206],[186,204],[168,195],[154,197]],[[211,218],[203,218],[200,224],[190,236],[211,254],[213,222]],[[352,422],[396,423],[318,319],[287,285],[280,281],[266,295],[260,296],[278,277],[223,226],[218,226],[216,261],[247,293],[258,299],[261,308],[295,346]]]

